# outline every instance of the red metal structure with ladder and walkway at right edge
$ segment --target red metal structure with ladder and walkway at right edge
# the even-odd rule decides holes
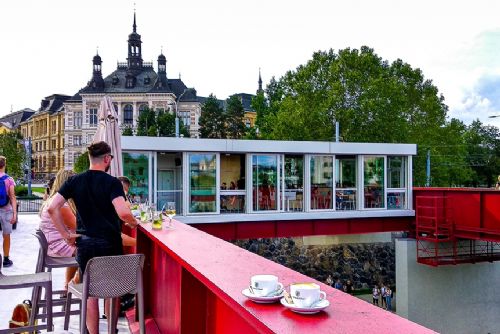
[[[500,192],[416,188],[414,195],[419,263],[500,260]]]

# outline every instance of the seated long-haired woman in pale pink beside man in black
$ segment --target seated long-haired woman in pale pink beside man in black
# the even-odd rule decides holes
[[[49,204],[52,197],[59,191],[59,188],[69,179],[70,176],[74,175],[72,171],[60,170],[54,180],[54,184],[50,189],[49,198],[43,203],[42,209],[40,210],[40,230],[42,230],[47,242],[49,244],[47,254],[53,257],[72,257],[75,256],[76,247],[75,245],[69,245],[59,231],[56,229],[50,215],[47,212]],[[69,200],[62,208],[61,215],[64,220],[64,224],[72,233],[76,230],[76,209],[75,204]],[[66,282],[65,288],[68,287],[69,281],[75,276],[78,267],[71,267],[66,269]]]

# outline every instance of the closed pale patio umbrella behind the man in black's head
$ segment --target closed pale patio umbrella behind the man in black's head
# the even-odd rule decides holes
[[[97,126],[97,132],[92,142],[105,141],[111,146],[111,154],[113,154],[114,158],[111,161],[109,173],[112,176],[121,176],[123,175],[122,144],[118,113],[113,106],[111,98],[107,95],[101,101],[98,117],[99,125]]]

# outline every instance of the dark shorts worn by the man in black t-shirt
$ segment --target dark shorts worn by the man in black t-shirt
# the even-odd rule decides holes
[[[121,243],[117,244],[106,239],[87,236],[81,236],[76,239],[76,249],[76,262],[78,262],[82,275],[90,259],[98,256],[123,254]]]

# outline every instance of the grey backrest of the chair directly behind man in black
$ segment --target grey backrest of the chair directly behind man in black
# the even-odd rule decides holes
[[[142,283],[143,254],[102,256],[90,259],[83,274],[88,297],[116,298],[135,293]]]

